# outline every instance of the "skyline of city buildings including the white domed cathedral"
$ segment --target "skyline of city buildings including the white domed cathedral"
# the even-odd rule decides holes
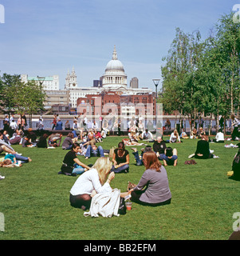
[[[45,107],[50,108],[51,106],[70,106],[71,113],[75,113],[78,104],[82,101],[90,100],[90,96],[94,98],[99,95],[104,95],[105,102],[112,102],[120,104],[123,98],[118,98],[116,95],[125,95],[132,97],[128,98],[128,102],[136,103],[140,98],[140,101],[146,98],[148,94],[154,98],[152,90],[148,87],[139,88],[138,78],[132,78],[130,82],[130,87],[127,86],[127,74],[125,74],[124,66],[122,62],[117,57],[116,46],[112,53],[112,59],[107,63],[105,67],[104,74],[99,78],[93,81],[92,87],[87,86],[78,86],[77,83],[77,74],[74,70],[70,73],[68,71],[65,78],[65,87],[64,90],[59,90],[59,77],[58,75],[53,75],[49,77],[29,77],[27,74],[22,74],[22,82],[36,81],[42,86],[42,90],[45,90],[47,98],[45,100]],[[113,94],[110,94],[113,93]],[[114,95],[114,96],[110,96]],[[133,97],[136,95],[136,97]],[[108,98],[109,97],[109,98]],[[147,97],[148,98],[148,97]],[[78,100],[79,99],[79,100]],[[90,101],[91,102],[91,101]],[[91,104],[92,105],[92,104]],[[104,104],[100,104],[103,106]],[[120,111],[120,106],[118,106]],[[135,110],[132,110],[133,112]]]

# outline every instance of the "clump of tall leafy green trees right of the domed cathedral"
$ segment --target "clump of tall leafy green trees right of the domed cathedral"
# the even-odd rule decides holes
[[[189,120],[198,114],[215,117],[240,111],[240,24],[233,13],[223,15],[210,34],[201,42],[199,31],[185,34],[176,29],[175,38],[163,58],[164,110],[179,110]],[[181,122],[180,122],[181,123]]]

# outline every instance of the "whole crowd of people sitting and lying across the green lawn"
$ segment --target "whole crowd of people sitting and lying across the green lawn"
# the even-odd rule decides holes
[[[83,120],[87,122],[86,119]],[[60,125],[59,122],[61,119],[57,119],[56,115],[56,122],[53,120],[53,130],[57,130],[57,126]],[[221,143],[225,140],[221,129],[218,130],[214,139],[209,139],[204,130],[199,129],[199,132],[193,130],[190,136],[187,136],[184,130],[180,135],[177,130],[174,130],[169,140],[164,141],[162,135],[154,138],[148,128],[144,129],[144,126],[140,128],[140,122],[136,125],[136,122],[132,120],[129,123],[128,138],[118,142],[110,157],[110,149],[104,149],[101,146],[104,143],[97,144],[97,142],[104,142],[107,137],[107,126],[103,127],[103,133],[103,130],[99,131],[96,122],[93,122],[87,130],[85,129],[87,123],[85,126],[79,127],[77,120],[74,120],[74,124],[76,126],[73,127],[73,130],[69,130],[69,134],[65,137],[59,130],[56,133],[52,132],[52,134],[43,133],[37,138],[32,129],[23,132],[18,129],[21,127],[14,126],[11,134],[3,129],[0,134],[0,153],[5,152],[6,154],[2,158],[0,166],[22,166],[23,163],[32,161],[31,158],[18,154],[12,145],[20,144],[23,147],[35,146],[45,149],[61,147],[67,152],[58,174],[80,175],[70,190],[69,200],[71,206],[86,210],[90,208],[92,198],[96,194],[112,190],[110,183],[115,178],[115,174],[128,174],[131,171],[129,150],[126,149],[126,146],[145,146],[140,153],[136,147],[131,147],[136,166],[144,166],[145,171],[140,182],[128,191],[121,193],[120,197],[124,198],[131,195],[132,202],[148,206],[160,206],[171,202],[171,191],[165,167],[178,165],[178,152],[172,144],[182,143],[181,139],[199,138],[195,153],[189,155],[188,158],[207,159],[218,158],[210,150],[210,143]],[[234,132],[237,136],[237,131]],[[153,143],[152,146],[148,145],[150,142]],[[239,175],[239,154],[238,150],[234,157],[233,173],[231,174],[234,177]],[[84,157],[85,160],[96,157],[96,162],[92,166],[92,164],[81,162],[78,156]]]

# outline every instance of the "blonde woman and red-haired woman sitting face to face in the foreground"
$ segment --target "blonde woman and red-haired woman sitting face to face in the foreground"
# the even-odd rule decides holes
[[[77,147],[76,147],[77,148]],[[120,145],[123,150],[123,144]],[[120,151],[121,151],[120,150]],[[114,163],[116,160],[114,161]],[[167,171],[159,162],[153,151],[148,151],[143,158],[145,171],[140,182],[126,192],[120,193],[124,198],[131,194],[132,202],[148,206],[161,206],[171,202]],[[115,178],[110,158],[98,158],[92,168],[81,174],[70,190],[71,206],[83,210],[90,209],[92,198],[96,194],[110,193],[110,183]],[[147,186],[146,189],[144,187]]]

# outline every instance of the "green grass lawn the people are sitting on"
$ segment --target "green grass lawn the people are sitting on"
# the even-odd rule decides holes
[[[120,140],[108,137],[100,145],[109,149]],[[227,240],[236,221],[233,214],[240,212],[240,182],[226,176],[238,149],[210,143],[219,158],[195,159],[197,165],[185,165],[187,156],[195,152],[197,141],[171,144],[178,150],[179,160],[178,166],[166,167],[172,194],[170,205],[133,203],[126,215],[112,218],[85,217],[83,210],[70,206],[69,190],[78,176],[57,174],[66,154],[61,147],[46,150],[14,146],[33,162],[0,169],[6,177],[0,180],[0,213],[5,218],[0,240]],[[131,152],[129,173],[116,174],[111,183],[112,188],[121,191],[127,189],[128,181],[139,182],[144,172],[144,166],[135,166],[131,146],[127,149]],[[87,164],[96,161],[79,158]]]

